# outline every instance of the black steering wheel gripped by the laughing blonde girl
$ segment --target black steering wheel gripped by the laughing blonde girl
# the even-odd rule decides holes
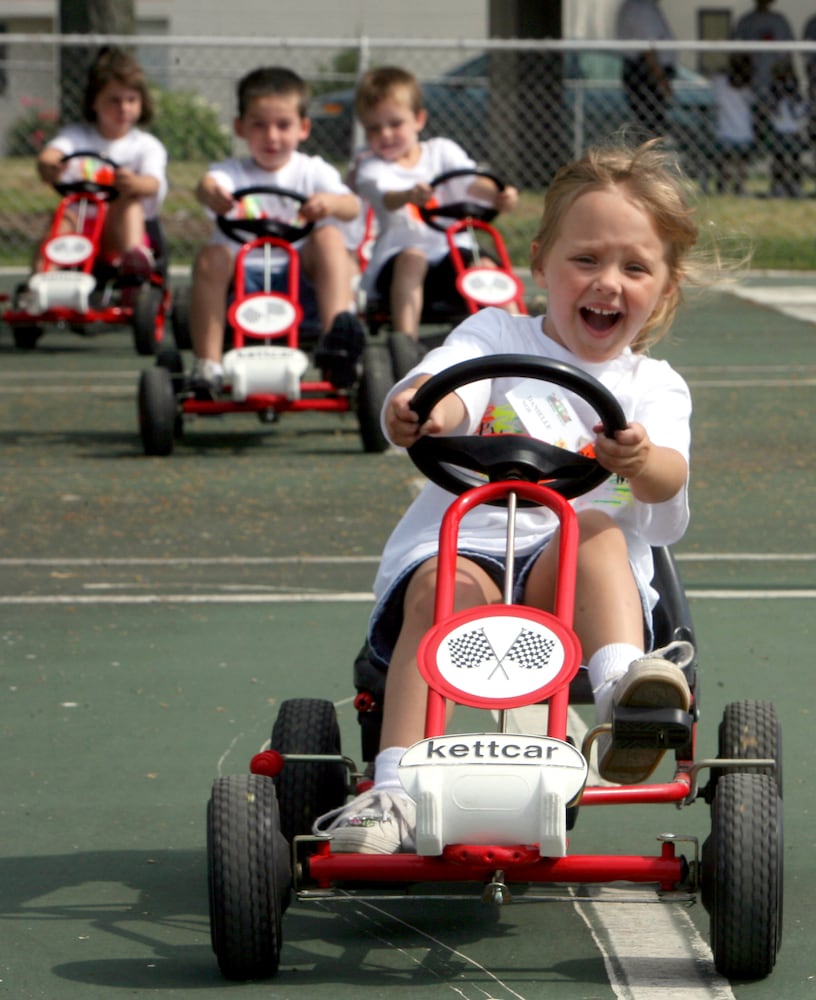
[[[626,426],[620,404],[597,379],[573,365],[523,354],[494,354],[453,365],[420,386],[411,406],[424,423],[444,396],[471,382],[494,378],[532,378],[569,389],[595,410],[607,437]],[[571,500],[609,478],[609,472],[595,458],[524,434],[424,435],[411,445],[408,454],[428,479],[456,494],[483,485],[485,479],[517,479],[543,482]],[[504,503],[495,501],[498,506]],[[533,506],[526,500],[519,504]]]

